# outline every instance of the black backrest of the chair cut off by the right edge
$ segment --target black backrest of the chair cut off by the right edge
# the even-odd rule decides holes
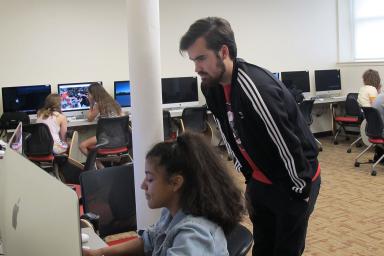
[[[366,135],[370,138],[382,138],[384,124],[379,110],[372,107],[363,107],[363,111],[367,121],[367,126],[365,127]]]

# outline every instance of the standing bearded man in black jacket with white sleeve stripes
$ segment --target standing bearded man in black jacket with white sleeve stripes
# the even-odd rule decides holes
[[[222,18],[193,23],[180,52],[194,62],[208,108],[246,178],[253,255],[301,255],[320,168],[293,96],[272,73],[236,58],[234,33]]]

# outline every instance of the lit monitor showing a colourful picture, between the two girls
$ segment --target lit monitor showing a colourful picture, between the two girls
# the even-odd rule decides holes
[[[59,84],[61,111],[89,109],[88,87],[92,82]]]

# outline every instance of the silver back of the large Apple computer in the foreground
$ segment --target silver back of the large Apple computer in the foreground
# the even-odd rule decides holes
[[[6,146],[0,171],[4,255],[81,256],[76,193]]]

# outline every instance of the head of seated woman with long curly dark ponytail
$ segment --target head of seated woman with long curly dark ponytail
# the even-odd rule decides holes
[[[147,153],[145,171],[142,189],[150,208],[182,209],[206,217],[225,232],[241,220],[242,193],[200,135],[184,133],[176,141],[156,144]]]

